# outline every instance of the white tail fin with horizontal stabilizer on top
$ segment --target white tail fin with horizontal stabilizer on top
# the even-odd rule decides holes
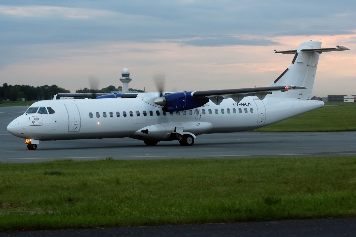
[[[295,55],[292,64],[269,86],[295,85],[307,88],[288,92],[274,92],[271,96],[310,99],[320,54],[341,50],[350,49],[339,45],[336,48],[321,48],[320,41],[305,41],[299,45],[297,50],[274,50],[276,53]]]

